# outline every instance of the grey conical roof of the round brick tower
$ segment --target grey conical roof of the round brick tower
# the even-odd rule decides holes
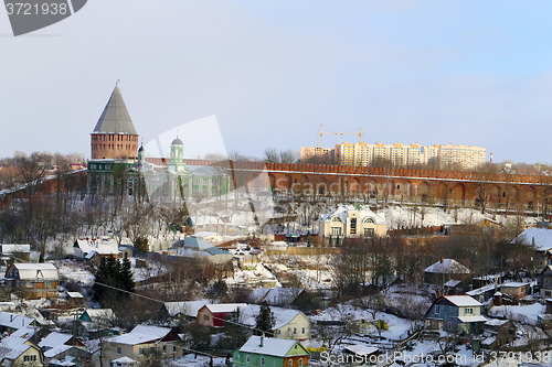
[[[118,86],[113,89],[112,97],[109,97],[93,133],[137,134]]]

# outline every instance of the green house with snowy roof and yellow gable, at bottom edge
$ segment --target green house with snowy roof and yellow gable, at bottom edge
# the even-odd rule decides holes
[[[306,367],[310,354],[297,341],[253,335],[234,350],[233,367]]]

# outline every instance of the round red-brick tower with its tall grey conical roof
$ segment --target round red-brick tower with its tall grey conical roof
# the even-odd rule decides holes
[[[91,133],[92,159],[135,158],[138,134],[116,85],[94,131]]]

